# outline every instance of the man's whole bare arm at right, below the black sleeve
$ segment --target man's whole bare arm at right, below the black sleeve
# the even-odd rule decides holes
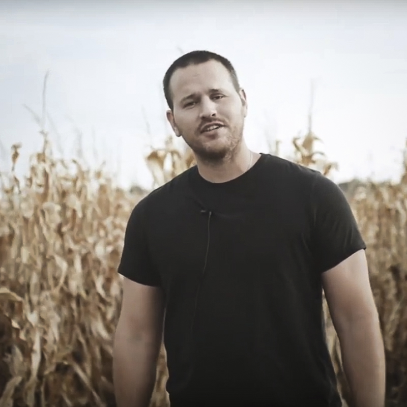
[[[364,250],[322,274],[355,407],[385,406],[385,353]]]

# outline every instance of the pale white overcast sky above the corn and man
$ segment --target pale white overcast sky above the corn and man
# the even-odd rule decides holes
[[[339,163],[334,180],[399,177],[407,138],[407,2],[192,3],[2,0],[0,169],[10,167],[13,143],[23,144],[20,174],[41,147],[23,105],[41,112],[49,71],[47,110],[60,138],[48,128],[65,156],[76,155],[78,128],[91,164],[96,147],[123,186],[150,187],[143,154],[170,133],[162,77],[181,52],[208,49],[238,72],[253,150],[266,151],[267,131],[282,140],[283,152],[293,151],[293,136],[307,128],[314,80],[313,129]]]

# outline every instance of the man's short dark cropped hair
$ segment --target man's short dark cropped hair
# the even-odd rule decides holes
[[[174,61],[164,75],[163,80],[164,96],[165,100],[167,101],[168,107],[171,110],[173,110],[174,107],[172,102],[172,95],[169,90],[169,81],[171,80],[172,74],[179,68],[186,68],[190,65],[199,65],[209,61],[220,62],[229,71],[236,92],[240,91],[239,79],[238,75],[236,74],[235,68],[224,56],[221,56],[211,51],[191,51],[180,56],[176,61]]]

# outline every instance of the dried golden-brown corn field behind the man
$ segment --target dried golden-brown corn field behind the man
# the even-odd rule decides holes
[[[0,407],[113,406],[112,339],[121,302],[117,274],[124,230],[139,197],[103,171],[32,157],[24,180],[2,175],[0,199]],[[316,160],[312,134],[293,141],[294,160],[329,174]],[[170,160],[169,170],[164,161]],[[173,148],[147,163],[161,184],[192,163]],[[407,171],[406,171],[407,174]],[[385,337],[388,406],[407,405],[407,175],[398,185],[370,185],[351,199],[367,255]],[[328,341],[340,390],[347,388],[327,312]],[[168,405],[165,354],[151,406]]]

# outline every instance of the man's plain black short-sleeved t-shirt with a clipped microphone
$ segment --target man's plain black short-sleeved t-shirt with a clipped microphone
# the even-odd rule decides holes
[[[321,275],[365,244],[342,191],[261,154],[213,184],[193,167],[143,198],[119,272],[165,293],[171,407],[339,407]]]

